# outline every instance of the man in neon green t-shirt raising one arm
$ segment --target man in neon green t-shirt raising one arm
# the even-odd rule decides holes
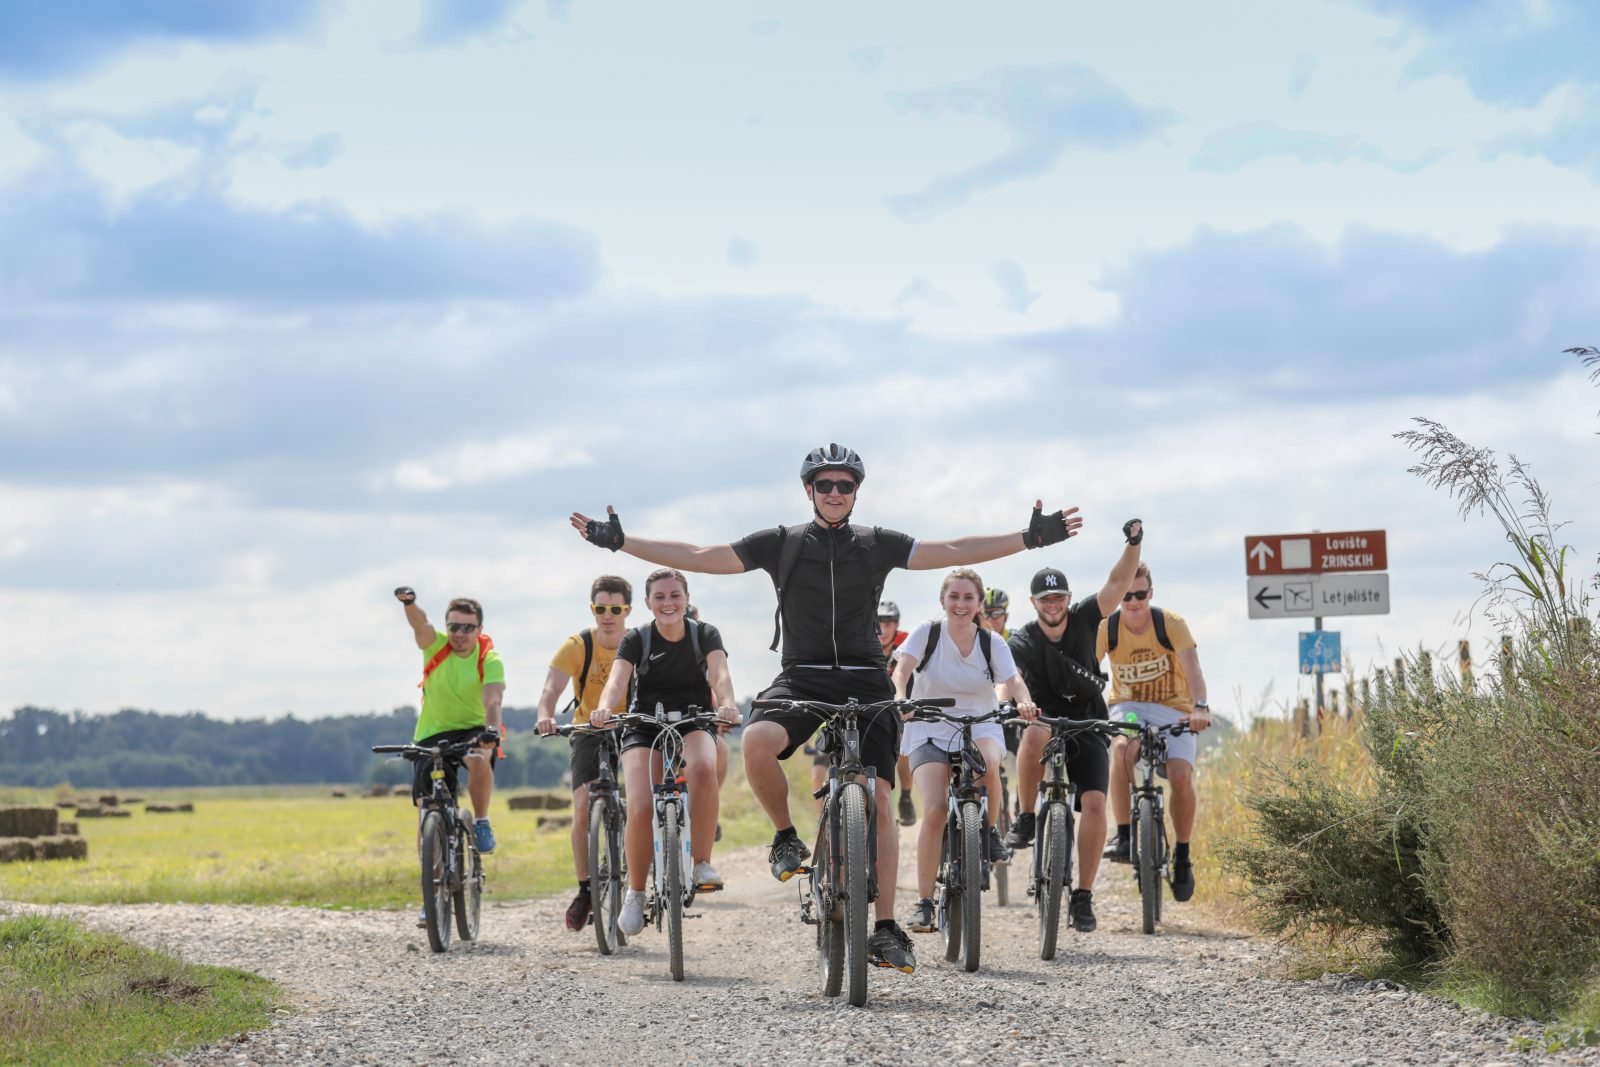
[[[413,741],[435,745],[445,741],[482,737],[483,744],[467,757],[467,793],[472,797],[474,840],[483,854],[494,851],[490,829],[490,797],[494,792],[494,750],[499,747],[501,702],[506,699],[506,667],[499,653],[483,633],[483,606],[477,600],[456,597],[445,608],[445,630],[440,633],[416,603],[416,590],[402,585],[395,600],[405,605],[405,619],[422,649],[422,710],[416,718]],[[429,766],[416,763],[411,798],[418,801],[429,789]]]

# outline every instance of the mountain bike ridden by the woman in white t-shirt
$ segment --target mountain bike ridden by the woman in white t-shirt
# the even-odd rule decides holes
[[[989,766],[973,741],[973,726],[994,723],[1013,713],[1006,702],[987,715],[946,715],[923,709],[914,721],[950,723],[962,736],[962,745],[950,753],[950,792],[946,800],[944,843],[939,849],[939,873],[934,880],[934,912],[944,934],[944,958],[960,963],[968,973],[982,958],[982,891],[989,888],[989,787],[978,779]]]

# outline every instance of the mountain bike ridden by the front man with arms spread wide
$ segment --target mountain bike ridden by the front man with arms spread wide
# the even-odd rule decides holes
[[[822,723],[818,750],[827,755],[827,782],[816,790],[822,811],[811,865],[802,867],[800,921],[816,926],[822,995],[843,990],[854,1008],[867,1003],[867,905],[878,896],[878,774],[861,763],[861,720],[923,707],[955,707],[949,697],[845,704],[755,701],[752,710],[798,710]]]

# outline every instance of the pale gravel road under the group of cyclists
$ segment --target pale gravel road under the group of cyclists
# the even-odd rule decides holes
[[[1267,977],[1274,945],[1184,905],[1142,936],[1126,867],[1101,877],[1099,929],[1064,929],[1056,960],[1038,960],[1030,907],[987,901],[979,973],[944,963],[938,936],[917,936],[917,973],[874,971],[867,1008],[853,1009],[818,992],[797,883],[773,881],[765,851],[718,867],[728,889],[696,902],[682,984],[667,977],[658,931],[602,958],[589,931],[562,926],[565,899],[490,896],[483,939],[445,955],[427,950],[414,912],[54,910],[290,990],[294,1011],[270,1030],[181,1064],[1600,1064],[1600,1049],[1515,1053],[1514,1038],[1538,1027],[1387,984]],[[912,899],[901,897],[904,913]]]

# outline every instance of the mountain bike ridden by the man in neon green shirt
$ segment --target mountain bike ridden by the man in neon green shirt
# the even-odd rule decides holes
[[[482,760],[478,737],[440,745],[373,745],[413,761],[429,760],[432,792],[419,805],[418,857],[422,865],[422,926],[434,952],[450,949],[450,913],[462,941],[478,939],[483,902],[483,857],[472,837],[472,821],[456,803],[456,771],[466,760]]]

